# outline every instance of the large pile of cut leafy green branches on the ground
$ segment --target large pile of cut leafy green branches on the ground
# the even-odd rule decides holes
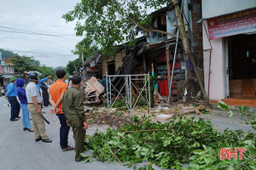
[[[210,121],[184,116],[163,124],[135,115],[131,122],[118,130],[108,128],[105,133],[96,131],[87,136],[84,148],[92,150],[92,154],[83,154],[84,162],[95,157],[98,161],[119,161],[127,166],[149,161],[164,169],[256,169],[255,133],[228,128],[220,132]],[[248,124],[254,129],[255,122],[256,112]],[[220,148],[235,147],[246,148],[243,160],[218,159]],[[139,169],[153,169],[149,163],[148,168]]]

